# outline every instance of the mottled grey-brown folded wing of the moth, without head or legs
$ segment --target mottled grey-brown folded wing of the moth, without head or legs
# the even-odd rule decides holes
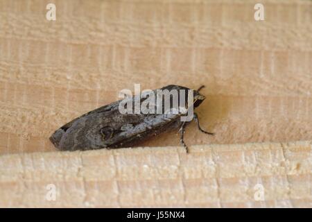
[[[168,85],[161,89],[170,91],[188,88]],[[153,92],[156,93],[156,90]],[[135,96],[132,102],[134,99]],[[104,105],[73,119],[51,135],[51,142],[60,150],[67,151],[119,148],[132,146],[148,137],[181,126],[180,113],[121,114],[120,103],[121,100]]]

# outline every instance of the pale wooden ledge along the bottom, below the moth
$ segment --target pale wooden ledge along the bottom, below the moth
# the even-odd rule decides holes
[[[312,207],[311,162],[311,142],[2,155],[0,207]]]

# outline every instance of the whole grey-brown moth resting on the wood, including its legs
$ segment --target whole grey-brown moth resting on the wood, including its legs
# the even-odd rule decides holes
[[[205,100],[205,96],[200,94],[203,87],[192,90],[179,85],[167,85],[161,89],[150,90],[148,94],[130,96],[127,103],[125,100],[119,100],[104,105],[65,124],[51,135],[50,141],[63,151],[122,148],[135,146],[168,130],[180,129],[180,143],[188,153],[189,148],[184,143],[184,132],[190,121],[183,121],[182,118],[187,117],[190,109],[198,108]],[[169,92],[169,99],[166,94],[159,96],[159,92]],[[150,103],[146,107],[152,111],[154,108],[154,112],[121,112],[121,108],[133,111],[136,102],[144,104],[148,100]],[[191,117],[191,121],[193,120],[202,133],[214,135],[202,130],[195,112]]]

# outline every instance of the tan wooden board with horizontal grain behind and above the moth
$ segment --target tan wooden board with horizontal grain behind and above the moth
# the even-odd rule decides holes
[[[47,138],[119,90],[206,85],[188,144],[312,139],[311,1],[0,1],[0,153]],[[177,146],[175,133],[144,146]]]

